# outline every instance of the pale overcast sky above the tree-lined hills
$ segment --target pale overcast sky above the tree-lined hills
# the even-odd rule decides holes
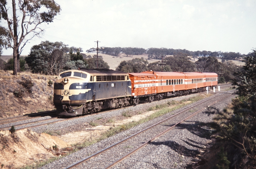
[[[256,48],[256,0],[55,0],[60,15],[41,41],[83,48],[173,48],[248,54]],[[12,54],[4,50],[2,55]]]

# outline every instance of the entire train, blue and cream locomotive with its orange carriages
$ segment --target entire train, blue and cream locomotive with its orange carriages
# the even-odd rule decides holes
[[[57,115],[76,116],[107,108],[137,105],[163,97],[187,95],[216,87],[216,73],[125,73],[110,69],[67,70],[54,83]]]

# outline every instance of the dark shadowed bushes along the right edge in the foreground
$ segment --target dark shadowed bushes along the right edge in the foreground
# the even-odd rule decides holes
[[[225,146],[230,168],[256,168],[256,50],[244,58],[243,70],[236,74],[238,97],[232,100],[232,114],[227,110],[216,117],[217,138]],[[222,153],[222,154],[223,154]],[[228,162],[217,167],[228,166]]]

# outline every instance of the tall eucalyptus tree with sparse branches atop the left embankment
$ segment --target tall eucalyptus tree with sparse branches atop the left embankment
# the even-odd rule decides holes
[[[54,0],[9,1],[0,0],[0,15],[6,21],[3,28],[11,36],[9,45],[13,48],[13,75],[17,75],[20,72],[19,56],[24,46],[35,36],[40,37],[44,31],[41,24],[53,22],[61,8]]]

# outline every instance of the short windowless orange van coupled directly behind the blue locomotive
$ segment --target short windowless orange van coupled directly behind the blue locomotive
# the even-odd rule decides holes
[[[140,101],[147,99],[146,101],[153,101],[154,95],[156,95],[156,75],[150,73],[128,73],[131,79],[131,93],[132,97],[140,98]],[[133,99],[134,104],[139,99]]]

